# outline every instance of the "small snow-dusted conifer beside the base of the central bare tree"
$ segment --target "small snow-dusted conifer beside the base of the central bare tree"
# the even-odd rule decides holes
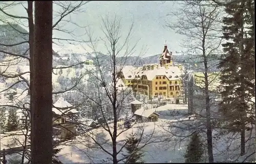
[[[139,138],[137,137],[137,134],[132,132],[126,139],[125,149],[127,154],[122,154],[123,157],[125,157],[125,163],[143,163],[141,158],[144,156],[144,154],[143,152],[138,151],[138,143]]]

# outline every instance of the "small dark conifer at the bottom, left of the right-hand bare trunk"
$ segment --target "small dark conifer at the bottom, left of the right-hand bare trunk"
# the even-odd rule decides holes
[[[200,136],[198,133],[194,133],[191,136],[190,142],[187,145],[187,150],[185,152],[185,162],[193,163],[200,162],[203,156],[202,142],[200,141]]]

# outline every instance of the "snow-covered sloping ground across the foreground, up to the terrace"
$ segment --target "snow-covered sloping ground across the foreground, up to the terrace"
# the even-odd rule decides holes
[[[182,138],[176,135],[187,135],[191,131],[195,130],[196,127],[204,130],[204,126],[201,126],[201,120],[197,120],[194,117],[184,115],[186,111],[186,105],[167,104],[157,108],[156,112],[160,114],[158,122],[149,123],[137,123],[133,128],[121,133],[118,138],[117,150],[119,151],[121,146],[126,139],[126,136],[132,131],[138,134],[142,134],[142,143],[140,146],[144,152],[143,160],[145,163],[166,163],[166,162],[184,162],[184,152],[188,138]],[[174,112],[179,111],[179,112]],[[180,114],[179,114],[180,113]],[[173,116],[172,116],[173,115]],[[170,126],[171,125],[171,126]],[[112,125],[110,125],[110,129]],[[193,130],[188,127],[194,127]],[[118,133],[122,129],[118,130]],[[246,155],[239,158],[240,153],[240,135],[236,134],[225,134],[217,138],[218,129],[214,129],[213,133],[213,144],[214,144],[214,158],[216,162],[221,161],[243,161],[243,159],[251,152],[255,151],[254,138],[251,142],[247,143]],[[255,137],[255,128],[252,129],[252,135]],[[103,149],[112,153],[111,137],[108,132],[102,128],[94,129],[88,133],[96,142],[102,146]],[[247,138],[250,135],[250,131],[247,131]],[[161,141],[161,142],[160,142]],[[205,133],[202,132],[202,141],[206,143]],[[63,163],[111,163],[108,158],[111,156],[104,152],[90,137],[77,136],[73,141],[68,141],[66,145],[60,146],[62,150],[57,154],[58,159]],[[251,144],[248,149],[248,144]],[[205,154],[202,162],[207,162],[207,147],[205,147]],[[123,151],[125,151],[123,149]],[[118,155],[118,159],[122,158],[121,151]],[[7,158],[13,158],[7,156]],[[17,158],[17,157],[15,157]],[[255,155],[252,155],[247,161],[254,159]],[[122,163],[122,162],[120,162]]]

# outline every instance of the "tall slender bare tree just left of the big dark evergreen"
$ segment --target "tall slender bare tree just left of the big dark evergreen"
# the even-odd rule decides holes
[[[217,7],[191,5],[190,1],[179,2],[179,5],[182,6],[179,11],[170,14],[177,17],[177,22],[166,26],[186,37],[184,43],[181,44],[186,50],[185,53],[203,65],[199,69],[200,72],[203,72],[203,76],[198,76],[198,78],[201,78],[200,81],[203,84],[200,89],[203,91],[205,101],[208,161],[214,162],[209,87],[213,82],[212,79],[215,79],[210,76],[216,76],[210,72],[210,67],[216,65],[217,62],[212,63],[210,61],[218,59],[217,54],[220,51],[221,39],[217,33],[220,29],[220,23],[215,21],[220,16],[220,10]]]

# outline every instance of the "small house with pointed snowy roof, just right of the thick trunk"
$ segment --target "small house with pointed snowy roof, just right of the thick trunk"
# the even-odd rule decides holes
[[[78,113],[73,105],[60,97],[52,108],[53,127],[61,129],[60,140],[68,140],[76,135],[75,115]]]

